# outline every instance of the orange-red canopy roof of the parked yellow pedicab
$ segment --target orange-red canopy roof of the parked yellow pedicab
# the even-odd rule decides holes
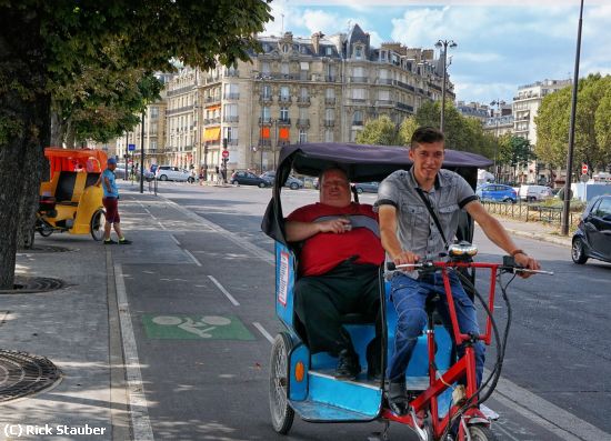
[[[107,154],[102,150],[48,147],[44,157],[49,160],[50,177],[56,171],[100,173],[107,166]]]

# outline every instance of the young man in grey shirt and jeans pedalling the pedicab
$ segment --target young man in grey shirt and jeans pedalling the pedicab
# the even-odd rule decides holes
[[[441,131],[430,127],[417,129],[408,154],[413,161],[412,168],[409,171],[393,172],[378,189],[375,211],[380,217],[380,235],[389,261],[404,264],[438,258],[448,248],[442,238],[454,238],[459,214],[464,210],[494,244],[513,255],[518,264],[532,270],[540,268],[537,260],[519,249],[503,225],[485,211],[471,186],[460,174],[441,170],[444,156],[444,137]],[[435,213],[443,233],[438,230],[424,198]],[[479,334],[472,300],[453,272],[450,272],[450,282],[461,333]],[[432,293],[441,295],[442,301],[438,302],[439,313],[450,335],[453,335],[441,274],[419,274],[403,270],[391,275],[391,297],[398,321],[394,350],[385,372],[385,393],[391,410],[398,414],[408,412],[405,370],[417,339],[427,323],[425,301]],[[461,357],[464,348],[457,349]],[[474,349],[479,387],[483,372],[484,347],[477,342]]]

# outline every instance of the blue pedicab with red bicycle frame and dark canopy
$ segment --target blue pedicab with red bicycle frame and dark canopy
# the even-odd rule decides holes
[[[475,188],[478,168],[492,162],[481,156],[447,149],[443,168],[453,170]],[[404,147],[363,146],[351,143],[304,143],[286,146],[280,152],[277,179],[272,199],[267,208],[261,228],[276,241],[276,313],[284,327],[273,342],[270,361],[270,411],[273,429],[288,433],[294,414],[309,422],[370,422],[382,421],[381,439],[388,438],[389,423],[398,422],[412,429],[421,441],[431,440],[494,440],[491,421],[480,411],[479,404],[492,393],[501,373],[503,343],[507,341],[509,322],[501,337],[492,312],[497,277],[501,272],[515,270],[512,258],[503,263],[475,263],[472,257],[477,249],[470,244],[473,237],[473,221],[464,213],[457,239],[460,243],[449,250],[449,257],[439,261],[420,263],[418,269],[440,271],[449,290],[448,273],[459,272],[468,292],[477,294],[487,312],[485,332],[481,335],[461,334],[458,328],[451,292],[448,294],[449,312],[452,318],[450,331],[428,309],[429,323],[423,329],[405,372],[410,397],[410,411],[397,415],[385,402],[384,379],[369,380],[367,345],[374,337],[371,319],[349,314],[342,320],[350,333],[359,362],[363,369],[354,381],[333,377],[337,359],[329,353],[311,354],[301,335],[299,319],[293,313],[293,287],[298,277],[298,259],[293,243],[284,234],[284,213],[281,190],[291,172],[317,177],[329,167],[343,169],[352,183],[381,181],[391,172],[411,167]],[[358,193],[353,191],[358,201]],[[288,214],[288,213],[287,213]],[[389,263],[392,267],[391,263]],[[390,360],[394,341],[397,314],[390,299],[390,283],[384,272],[393,268],[380,268],[380,302],[382,311],[383,349],[380,354],[382,372]],[[475,268],[491,271],[488,299],[474,288]],[[511,279],[512,280],[512,279]],[[503,299],[508,302],[505,287],[501,285]],[[439,301],[438,299],[430,299]],[[432,304],[432,303],[431,303]],[[369,320],[369,322],[368,322]],[[450,338],[465,343],[464,355],[458,359]],[[492,334],[494,339],[492,340]],[[492,374],[475,387],[474,353],[472,344],[480,340],[497,345],[497,359]],[[454,438],[452,438],[454,437]]]

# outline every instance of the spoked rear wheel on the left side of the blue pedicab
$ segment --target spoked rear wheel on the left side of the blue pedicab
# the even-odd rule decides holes
[[[276,335],[270,360],[270,412],[273,430],[286,434],[293,424],[294,411],[289,404],[289,351],[291,339],[286,332]]]

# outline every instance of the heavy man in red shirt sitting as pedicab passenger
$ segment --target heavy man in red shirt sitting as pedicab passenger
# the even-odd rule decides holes
[[[361,313],[375,321],[367,348],[368,377],[380,378],[379,267],[384,260],[378,216],[365,203],[351,202],[345,172],[333,168],[320,176],[320,202],[293,211],[287,240],[300,242],[294,312],[303,324],[311,353],[338,357],[335,378],[353,380],[361,371],[341,317]]]

